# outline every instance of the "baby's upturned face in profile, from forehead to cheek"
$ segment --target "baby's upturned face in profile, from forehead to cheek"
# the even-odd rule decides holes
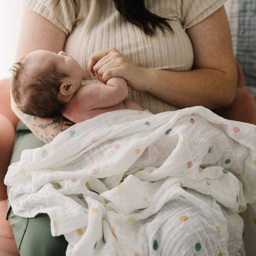
[[[68,74],[70,84],[74,84],[77,89],[81,86],[83,70],[79,63],[65,52],[58,54],[49,50],[36,50],[26,57],[31,74],[39,73],[54,65],[57,71]]]

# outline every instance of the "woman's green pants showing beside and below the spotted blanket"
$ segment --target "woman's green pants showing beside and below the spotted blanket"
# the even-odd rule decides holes
[[[41,140],[36,138],[22,122],[19,122],[11,162],[19,161],[23,150],[43,145]],[[68,242],[64,236],[52,236],[50,218],[47,214],[39,214],[34,218],[18,217],[14,215],[10,206],[8,213],[21,256],[65,255]]]

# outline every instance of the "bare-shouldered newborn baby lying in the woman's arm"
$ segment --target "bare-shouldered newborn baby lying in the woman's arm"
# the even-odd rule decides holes
[[[39,118],[62,114],[82,122],[108,111],[143,110],[126,98],[128,87],[122,78],[82,85],[82,67],[63,51],[36,50],[14,63],[11,71],[15,103],[23,113]]]

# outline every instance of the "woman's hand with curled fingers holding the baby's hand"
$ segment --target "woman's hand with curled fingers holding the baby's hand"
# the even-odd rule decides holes
[[[134,90],[143,90],[138,78],[142,78],[144,69],[135,65],[129,58],[115,48],[98,50],[89,58],[89,70],[92,76],[105,83],[113,77],[121,77]]]

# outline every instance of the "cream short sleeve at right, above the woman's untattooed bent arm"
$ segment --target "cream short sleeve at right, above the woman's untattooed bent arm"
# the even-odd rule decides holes
[[[224,5],[226,0],[183,0],[182,23],[183,28],[191,26],[204,20]]]

